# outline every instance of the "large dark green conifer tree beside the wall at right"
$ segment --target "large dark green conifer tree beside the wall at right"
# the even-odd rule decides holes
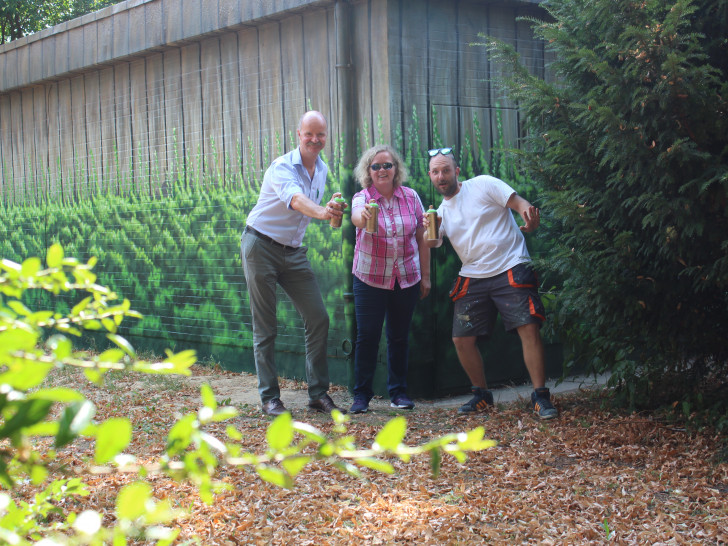
[[[553,325],[632,403],[725,399],[728,2],[544,7],[548,81],[487,45],[527,118],[520,154],[555,242],[540,265],[563,279]]]

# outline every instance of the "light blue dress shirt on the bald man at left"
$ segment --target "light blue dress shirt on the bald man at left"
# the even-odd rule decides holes
[[[298,148],[278,157],[265,171],[258,202],[248,214],[247,225],[282,245],[301,246],[311,218],[293,210],[291,199],[302,193],[320,204],[327,173],[328,167],[317,157],[311,179]]]

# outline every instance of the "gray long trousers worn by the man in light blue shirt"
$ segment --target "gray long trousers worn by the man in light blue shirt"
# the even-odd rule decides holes
[[[276,284],[281,285],[303,319],[308,396],[311,400],[318,400],[329,390],[329,364],[326,357],[329,315],[306,257],[307,251],[303,246],[283,248],[252,233],[243,233],[240,241],[253,318],[258,392],[264,404],[280,398],[281,394],[275,362],[278,331]]]

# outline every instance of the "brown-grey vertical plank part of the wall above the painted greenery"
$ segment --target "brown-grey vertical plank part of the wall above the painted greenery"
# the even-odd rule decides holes
[[[470,44],[497,36],[543,72],[541,44],[516,20],[538,13],[368,0],[340,20],[333,2],[129,0],[0,46],[0,194],[18,203],[88,184],[161,186],[180,169],[250,176],[290,148],[307,108],[331,120],[332,145],[349,132],[349,147],[398,135],[426,147],[437,123],[459,146],[474,143],[474,120],[486,149],[498,121],[513,143],[518,112],[494,85],[498,67]]]

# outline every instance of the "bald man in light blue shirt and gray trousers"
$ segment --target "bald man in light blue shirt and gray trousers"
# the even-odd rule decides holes
[[[258,202],[248,215],[240,241],[253,319],[258,392],[263,413],[272,416],[288,411],[280,399],[275,363],[276,284],[303,318],[308,407],[326,413],[338,409],[327,394],[329,315],[306,257],[308,249],[301,242],[312,218],[331,220],[343,214],[334,203],[341,194],[334,193],[325,207],[319,204],[328,172],[319,157],[328,136],[326,118],[320,112],[306,112],[296,134],[298,147],[275,159],[265,172]]]

